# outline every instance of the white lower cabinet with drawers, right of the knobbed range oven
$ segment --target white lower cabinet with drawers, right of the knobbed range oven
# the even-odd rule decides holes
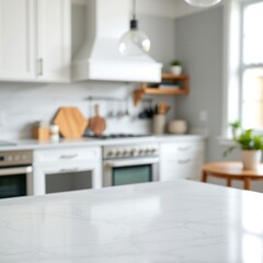
[[[204,141],[163,142],[160,145],[160,181],[201,180]]]

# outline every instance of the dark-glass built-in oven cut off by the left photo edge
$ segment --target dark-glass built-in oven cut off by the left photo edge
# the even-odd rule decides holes
[[[30,150],[0,151],[0,198],[33,194]]]

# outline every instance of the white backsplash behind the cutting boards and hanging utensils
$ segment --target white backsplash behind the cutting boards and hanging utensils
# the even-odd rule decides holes
[[[52,122],[60,106],[77,106],[85,117],[94,114],[93,106],[99,103],[101,116],[107,117],[107,112],[126,110],[126,101],[89,101],[87,98],[128,98],[130,116],[106,119],[106,133],[150,133],[151,121],[137,118],[141,105],[133,105],[133,91],[138,84],[82,82],[71,84],[38,84],[38,83],[0,83],[0,138],[30,138],[32,124],[36,121]],[[163,98],[160,100],[163,100]],[[172,98],[165,98],[170,104]],[[170,111],[173,116],[174,108]]]

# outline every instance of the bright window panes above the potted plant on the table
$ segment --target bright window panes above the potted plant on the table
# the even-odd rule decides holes
[[[263,1],[242,5],[240,118],[243,128],[263,129]]]

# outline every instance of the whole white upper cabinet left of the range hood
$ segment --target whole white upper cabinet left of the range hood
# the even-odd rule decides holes
[[[70,81],[70,0],[0,0],[0,81]]]

